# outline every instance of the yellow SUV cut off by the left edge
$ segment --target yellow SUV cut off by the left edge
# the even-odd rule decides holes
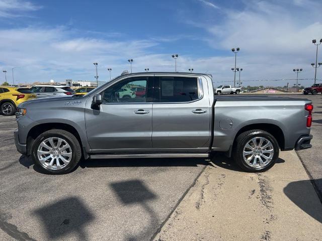
[[[28,88],[0,85],[0,113],[14,115],[18,104],[36,98]]]

